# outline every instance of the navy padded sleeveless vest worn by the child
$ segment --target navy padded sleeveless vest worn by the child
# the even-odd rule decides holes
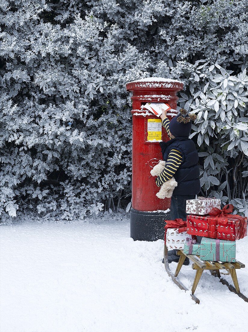
[[[198,195],[201,191],[198,153],[195,143],[188,137],[175,137],[168,142],[160,142],[163,159],[167,161],[172,149],[182,154],[182,163],[174,174],[177,187],[173,195]]]

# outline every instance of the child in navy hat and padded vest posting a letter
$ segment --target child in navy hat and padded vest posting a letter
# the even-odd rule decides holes
[[[156,178],[156,184],[160,187],[173,176],[177,187],[171,198],[171,219],[181,218],[186,220],[186,200],[192,200],[201,191],[200,170],[198,166],[198,153],[192,139],[189,139],[193,114],[180,109],[180,113],[170,121],[166,111],[161,114],[162,125],[165,127],[170,140],[160,142],[163,159],[166,161],[165,169]],[[168,262],[178,262],[179,256],[176,250],[168,251]],[[184,265],[189,264],[186,258]]]

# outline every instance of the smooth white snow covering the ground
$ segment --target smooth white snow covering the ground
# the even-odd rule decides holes
[[[247,331],[248,303],[204,273],[195,304],[166,274],[163,241],[133,241],[128,216],[0,232],[1,332]],[[237,241],[237,259],[248,267],[247,243]],[[179,274],[189,288],[190,266]],[[248,296],[248,268],[237,275]]]

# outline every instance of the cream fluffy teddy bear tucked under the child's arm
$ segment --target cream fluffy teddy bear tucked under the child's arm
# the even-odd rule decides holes
[[[153,167],[151,170],[152,176],[159,176],[159,174],[164,170],[166,162],[163,160],[160,160],[160,162]],[[177,186],[177,182],[174,177],[172,177],[170,180],[164,182],[162,186],[160,187],[159,192],[156,194],[158,198],[164,199],[164,198],[171,198],[173,190]]]

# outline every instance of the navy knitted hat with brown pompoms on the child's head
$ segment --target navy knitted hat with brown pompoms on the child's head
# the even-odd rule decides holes
[[[172,118],[169,124],[169,130],[175,137],[189,137],[192,120],[196,120],[195,114],[187,114],[187,111],[183,108],[180,109],[180,113]]]

